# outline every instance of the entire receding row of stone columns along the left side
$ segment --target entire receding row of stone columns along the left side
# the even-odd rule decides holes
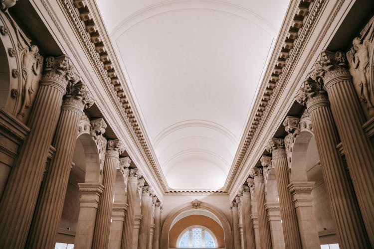
[[[94,104],[67,55],[45,59],[39,84],[28,122],[30,133],[2,193],[1,248],[54,248],[80,123],[88,119],[84,110]],[[74,248],[133,248],[138,240],[134,235],[137,198],[142,221],[135,248],[158,248],[162,203],[130,158],[122,156],[126,144],[103,136],[105,121],[92,119],[87,125],[92,140],[101,146],[103,166],[100,179],[78,183],[81,197]],[[51,146],[55,151],[48,161]],[[115,196],[118,173],[123,176],[123,196]]]

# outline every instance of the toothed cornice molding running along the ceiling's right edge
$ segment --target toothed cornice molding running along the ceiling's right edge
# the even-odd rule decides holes
[[[322,3],[324,0],[319,0],[318,4],[315,4],[315,8],[311,11],[311,2],[314,0],[300,0],[299,4],[296,5],[296,13],[294,14],[295,10],[292,10],[291,14],[294,14],[292,20],[288,23],[289,28],[288,30],[284,30],[285,40],[283,43],[276,45],[274,54],[278,53],[278,57],[273,57],[272,60],[269,62],[269,66],[267,69],[267,74],[265,75],[262,85],[266,86],[263,87],[262,95],[261,90],[259,95],[257,96],[257,108],[252,109],[252,114],[250,119],[248,120],[248,124],[246,127],[246,133],[244,133],[242,140],[240,142],[240,146],[231,166],[230,174],[225,183],[225,189],[230,189],[231,184],[238,173],[238,169],[242,168],[242,163],[245,155],[248,152],[248,148],[253,140],[254,134],[257,131],[260,122],[265,117],[265,120],[268,118],[269,109],[272,108],[273,105],[269,105],[269,101],[271,98],[277,98],[279,96],[279,91],[275,91],[275,88],[279,89],[279,85],[284,84],[280,82],[280,77],[286,74],[288,75],[291,72],[291,69],[294,66],[296,59],[298,58],[298,51],[304,45],[306,37],[310,33],[311,27],[315,22],[315,17],[321,10]],[[309,14],[311,12],[311,14]],[[309,18],[306,18],[309,14]],[[309,21],[309,22],[307,22]],[[286,23],[287,24],[287,23]],[[305,26],[304,32],[300,35],[302,27]],[[280,37],[282,37],[283,32],[280,32]],[[291,53],[293,54],[291,57]],[[284,79],[285,77],[283,77]],[[273,93],[275,97],[273,96]],[[270,107],[267,107],[270,106]],[[252,121],[251,121],[252,119]],[[262,121],[264,123],[264,121]],[[245,135],[246,134],[246,135]]]

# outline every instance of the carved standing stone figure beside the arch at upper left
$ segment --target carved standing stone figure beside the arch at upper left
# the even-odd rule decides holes
[[[31,106],[31,94],[36,90],[38,83],[38,75],[43,64],[43,57],[39,54],[39,49],[36,45],[26,47],[20,52],[22,65],[22,105],[18,115],[24,115],[26,107]]]

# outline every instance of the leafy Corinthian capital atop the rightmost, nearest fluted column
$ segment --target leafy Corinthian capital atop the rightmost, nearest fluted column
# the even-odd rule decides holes
[[[331,86],[329,83],[333,79],[349,75],[347,59],[342,51],[334,53],[323,50],[320,54],[320,59],[314,63],[313,70],[310,72],[313,80],[323,80],[326,89]]]

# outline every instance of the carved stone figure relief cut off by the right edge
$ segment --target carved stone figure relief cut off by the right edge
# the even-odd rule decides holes
[[[352,41],[352,47],[347,52],[349,70],[353,77],[356,92],[366,108],[364,112],[374,115],[374,16]]]

